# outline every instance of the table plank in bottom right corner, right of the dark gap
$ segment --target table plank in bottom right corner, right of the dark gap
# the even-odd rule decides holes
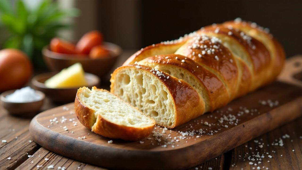
[[[257,169],[259,166],[261,169],[266,169],[268,167],[268,169],[274,170],[302,169],[301,125],[302,117],[236,147],[232,150],[229,168],[232,170],[241,168],[247,170],[253,167]],[[283,142],[282,146],[280,146],[280,139]],[[261,144],[264,143],[262,148],[259,147],[257,141]],[[276,143],[278,145],[275,145]],[[258,152],[259,155],[264,154],[264,158],[261,158],[262,160],[257,160],[257,157],[252,156],[256,155]],[[268,155],[271,155],[272,158],[269,158]],[[251,156],[250,159],[255,158],[255,160],[249,160],[249,156]],[[249,162],[252,162],[253,165],[250,165]],[[255,163],[257,165],[255,165]]]

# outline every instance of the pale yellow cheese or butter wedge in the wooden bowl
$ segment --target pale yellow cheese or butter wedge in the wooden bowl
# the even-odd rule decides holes
[[[58,74],[45,81],[45,86],[48,88],[83,87],[87,85],[85,73],[82,64],[80,63],[73,64],[72,66],[63,69]]]

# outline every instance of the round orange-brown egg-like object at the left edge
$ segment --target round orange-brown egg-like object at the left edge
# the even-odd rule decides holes
[[[0,91],[20,89],[31,78],[32,72],[31,62],[22,51],[0,50]]]

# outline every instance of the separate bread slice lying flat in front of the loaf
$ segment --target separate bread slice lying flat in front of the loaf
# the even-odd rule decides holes
[[[79,88],[75,99],[79,121],[105,137],[135,141],[148,136],[155,121],[107,90]]]

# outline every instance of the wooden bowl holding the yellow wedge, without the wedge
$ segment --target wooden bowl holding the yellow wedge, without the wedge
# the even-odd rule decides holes
[[[58,72],[49,72],[43,73],[35,76],[31,83],[33,84],[33,88],[45,93],[45,95],[56,103],[69,103],[73,102],[76,98],[76,93],[79,87],[72,87],[72,88],[48,88],[45,87],[44,82],[52,77],[53,75],[57,74]],[[98,86],[100,83],[100,79],[98,76],[90,73],[85,73],[85,79],[88,82],[89,88],[93,86]]]

